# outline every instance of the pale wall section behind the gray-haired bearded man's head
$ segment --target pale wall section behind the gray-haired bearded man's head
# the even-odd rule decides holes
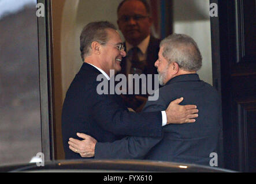
[[[203,57],[199,77],[212,85],[209,1],[174,0],[173,7],[173,32],[188,34],[196,41]]]

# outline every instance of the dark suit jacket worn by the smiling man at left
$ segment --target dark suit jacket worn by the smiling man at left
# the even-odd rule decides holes
[[[69,137],[86,133],[100,142],[112,142],[124,135],[161,135],[161,112],[132,113],[118,95],[99,95],[97,68],[83,63],[66,92],[62,108],[62,137],[66,159],[79,159],[69,150]]]

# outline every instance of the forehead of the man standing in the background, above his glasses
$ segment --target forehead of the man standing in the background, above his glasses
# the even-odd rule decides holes
[[[142,2],[132,0],[123,3],[123,5],[120,7],[120,10],[118,11],[118,16],[146,13],[146,7]]]

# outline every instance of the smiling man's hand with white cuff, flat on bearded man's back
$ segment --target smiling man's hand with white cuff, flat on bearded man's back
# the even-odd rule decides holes
[[[198,109],[195,105],[179,105],[183,101],[183,97],[170,102],[165,110],[167,116],[167,124],[183,124],[185,122],[195,122],[198,117]]]

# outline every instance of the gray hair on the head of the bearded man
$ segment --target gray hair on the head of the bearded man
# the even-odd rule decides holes
[[[171,34],[161,41],[162,55],[168,62],[176,62],[186,71],[198,71],[202,67],[202,56],[195,41],[185,34]]]

